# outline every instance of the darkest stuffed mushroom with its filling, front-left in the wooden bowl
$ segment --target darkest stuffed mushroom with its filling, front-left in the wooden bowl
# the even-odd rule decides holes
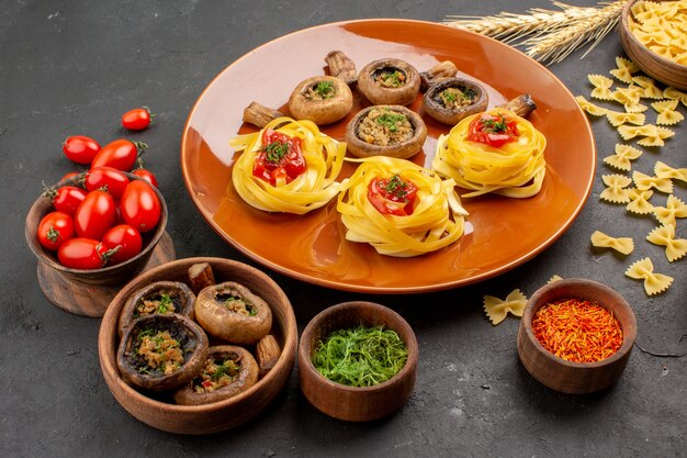
[[[207,336],[184,315],[148,315],[128,326],[117,350],[117,367],[131,383],[153,391],[173,390],[193,380],[207,357]]]

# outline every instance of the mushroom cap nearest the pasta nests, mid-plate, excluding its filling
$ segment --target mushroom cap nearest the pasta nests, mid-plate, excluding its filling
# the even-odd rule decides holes
[[[386,109],[405,114],[413,125],[413,137],[407,142],[392,146],[373,145],[358,136],[358,126],[364,118],[374,109]],[[415,156],[427,138],[427,126],[416,112],[402,105],[372,105],[359,111],[346,127],[346,143],[348,150],[356,157],[390,156],[399,159],[407,159]]]

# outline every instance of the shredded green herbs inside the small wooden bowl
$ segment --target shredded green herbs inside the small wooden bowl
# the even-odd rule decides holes
[[[394,377],[408,359],[398,334],[383,326],[338,329],[319,342],[315,368],[327,379],[349,387],[372,387]]]

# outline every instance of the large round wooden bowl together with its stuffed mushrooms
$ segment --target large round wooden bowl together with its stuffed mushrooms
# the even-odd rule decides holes
[[[222,258],[179,259],[135,278],[112,300],[98,336],[105,383],[124,410],[192,435],[262,412],[289,380],[296,346],[281,288]]]

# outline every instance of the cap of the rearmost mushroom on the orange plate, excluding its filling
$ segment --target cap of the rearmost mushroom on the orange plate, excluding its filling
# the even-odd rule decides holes
[[[375,76],[385,69],[398,69],[405,74],[406,80],[397,88],[385,88],[374,81]],[[358,76],[358,89],[376,105],[408,105],[413,103],[420,90],[420,74],[415,67],[401,59],[379,59],[365,65]]]

